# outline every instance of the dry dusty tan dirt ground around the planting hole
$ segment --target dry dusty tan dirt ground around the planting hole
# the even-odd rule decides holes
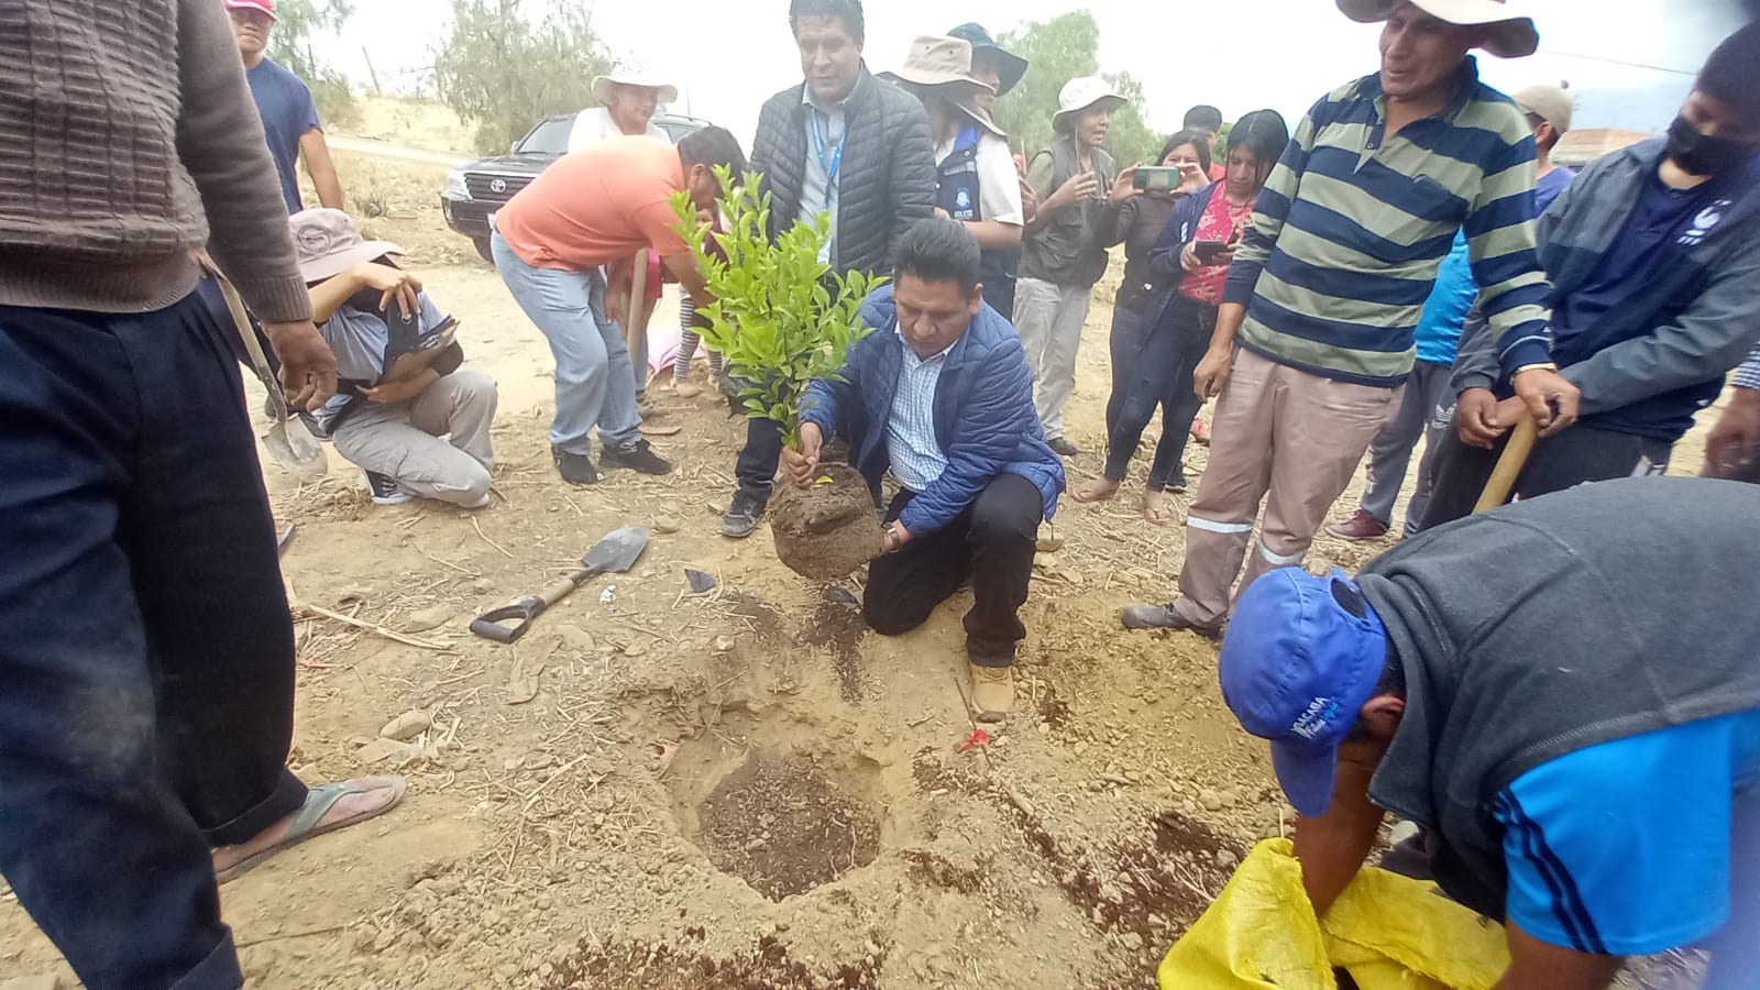
[[[1116,502],[1065,499],[1044,528],[1061,546],[1024,610],[1019,705],[959,752],[970,592],[878,638],[859,581],[804,581],[767,527],[720,537],[743,425],[709,396],[651,393],[683,426],[655,440],[674,474],[561,484],[547,349],[440,224],[444,167],[338,159],[352,203],[382,208],[356,208],[370,236],[410,248],[468,361],[500,380],[498,497],[473,514],[377,507],[334,451],[319,484],[266,469],[276,518],[299,527],[283,560],[299,602],[438,625],[410,646],[296,608],[292,766],[312,782],[396,768],[410,789],[224,890],[248,986],[1140,988],[1239,856],[1287,830],[1264,747],[1223,708],[1214,646],[1118,625],[1123,604],[1170,597],[1183,553],[1179,525],[1137,514],[1140,460]],[[1100,469],[1109,321],[1098,301],[1072,483]],[[1683,444],[1679,469],[1698,449]],[[1188,465],[1202,472],[1202,447]],[[653,530],[634,571],[517,645],[468,634],[625,525]],[[1313,562],[1385,546],[1324,539]],[[715,590],[692,594],[686,569]],[[431,728],[366,745],[410,710]],[[48,972],[74,985],[0,893],[0,981]]]

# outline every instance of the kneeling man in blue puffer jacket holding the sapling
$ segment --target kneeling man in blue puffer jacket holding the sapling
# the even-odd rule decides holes
[[[1033,409],[1021,338],[979,285],[979,243],[954,220],[920,220],[896,248],[892,285],[862,303],[873,333],[850,347],[843,380],[801,402],[801,449],[788,477],[811,484],[818,449],[840,430],[850,463],[887,507],[885,550],[868,565],[862,613],[884,636],[922,625],[970,578],[966,659],[972,708],[1000,722],[1014,703],[1019,610],[1040,520],[1058,509],[1063,463]]]

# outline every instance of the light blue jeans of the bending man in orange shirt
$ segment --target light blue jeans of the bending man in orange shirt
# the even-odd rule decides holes
[[[556,358],[556,417],[551,446],[570,454],[591,454],[588,432],[598,426],[607,447],[641,439],[635,412],[635,368],[623,329],[605,317],[605,277],[591,271],[533,268],[507,247],[500,233],[489,238],[495,268],[507,291],[539,326]]]

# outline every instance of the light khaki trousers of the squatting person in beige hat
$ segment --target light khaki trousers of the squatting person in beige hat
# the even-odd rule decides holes
[[[495,379],[459,368],[408,402],[357,402],[336,426],[336,453],[419,499],[480,506],[495,467]]]

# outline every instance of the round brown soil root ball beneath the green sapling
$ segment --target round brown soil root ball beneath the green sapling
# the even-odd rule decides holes
[[[847,463],[824,465],[808,488],[778,484],[769,518],[776,558],[815,581],[848,578],[880,548],[868,481]]]

